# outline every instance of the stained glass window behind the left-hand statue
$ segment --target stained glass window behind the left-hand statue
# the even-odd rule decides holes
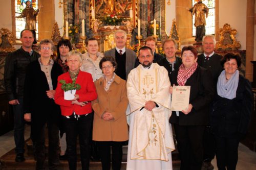
[[[15,16],[19,16],[22,11],[26,8],[26,2],[28,0],[15,0]],[[29,0],[31,2],[32,7],[36,10],[38,1],[37,0]],[[26,21],[25,18],[15,18],[16,23],[16,39],[20,38],[20,32],[25,29]],[[38,24],[36,23],[36,30],[38,30]],[[38,31],[36,31],[36,39],[38,39]]]

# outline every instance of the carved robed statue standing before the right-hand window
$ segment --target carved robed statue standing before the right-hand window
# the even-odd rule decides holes
[[[196,41],[202,41],[203,36],[205,35],[205,25],[206,20],[205,17],[208,17],[209,9],[207,6],[202,3],[201,0],[197,0],[197,3],[193,8],[189,9],[192,12],[192,15],[195,14],[195,27],[196,27]]]

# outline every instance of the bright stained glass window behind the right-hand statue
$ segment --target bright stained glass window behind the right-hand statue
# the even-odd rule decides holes
[[[205,34],[215,34],[215,0],[203,0],[202,1],[209,9],[208,17],[206,18]],[[197,1],[192,0],[192,7]],[[193,36],[196,36],[195,15],[193,15]]]

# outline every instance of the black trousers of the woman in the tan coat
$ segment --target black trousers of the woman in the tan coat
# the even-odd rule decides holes
[[[99,153],[101,157],[102,170],[110,170],[111,151],[112,147],[112,169],[120,170],[122,163],[122,145],[123,141],[97,141]]]

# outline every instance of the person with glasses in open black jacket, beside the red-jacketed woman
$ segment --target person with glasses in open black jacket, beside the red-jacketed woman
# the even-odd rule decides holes
[[[48,128],[49,169],[59,164],[60,108],[54,102],[57,78],[62,68],[50,59],[54,44],[51,40],[42,40],[39,44],[41,57],[31,62],[26,70],[24,86],[24,119],[31,121],[31,139],[35,147],[36,169],[43,169],[45,162],[45,131]]]

